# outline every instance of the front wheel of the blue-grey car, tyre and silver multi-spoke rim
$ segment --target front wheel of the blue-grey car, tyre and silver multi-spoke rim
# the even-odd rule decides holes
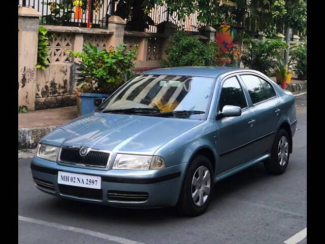
[[[188,216],[202,215],[211,200],[214,174],[209,159],[196,156],[189,164],[178,201],[178,210]]]

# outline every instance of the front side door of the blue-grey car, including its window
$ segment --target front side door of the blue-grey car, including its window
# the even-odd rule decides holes
[[[249,108],[243,89],[237,76],[226,78],[221,85],[217,109],[224,105],[239,106],[242,114],[237,117],[215,119],[219,132],[216,146],[219,151],[216,173],[220,174],[246,163],[256,157],[256,150],[251,145],[255,139],[255,115]]]

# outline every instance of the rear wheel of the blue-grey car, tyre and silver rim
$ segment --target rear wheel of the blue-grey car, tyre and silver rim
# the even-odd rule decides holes
[[[264,162],[264,167],[268,173],[282,174],[285,171],[289,163],[290,148],[289,135],[281,128],[274,139],[271,158]]]

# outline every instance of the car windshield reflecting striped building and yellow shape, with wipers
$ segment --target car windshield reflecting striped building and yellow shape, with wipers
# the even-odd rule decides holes
[[[214,79],[139,75],[121,86],[97,112],[204,119]]]

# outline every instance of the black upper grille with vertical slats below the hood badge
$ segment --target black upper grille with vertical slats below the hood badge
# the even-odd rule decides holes
[[[71,164],[83,164],[86,166],[106,167],[109,153],[90,150],[85,156],[79,154],[79,147],[62,147],[60,161]]]

